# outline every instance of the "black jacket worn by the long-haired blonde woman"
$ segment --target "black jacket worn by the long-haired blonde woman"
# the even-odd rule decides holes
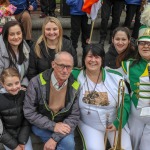
[[[27,74],[29,80],[31,80],[39,73],[45,71],[46,69],[50,69],[51,62],[55,57],[54,49],[48,49],[49,55],[47,54],[44,41],[42,41],[39,46],[41,49],[42,58],[37,57],[33,50],[30,52],[29,69]],[[63,38],[62,51],[69,52],[74,58],[74,66],[77,66],[77,52],[73,48],[71,40]]]

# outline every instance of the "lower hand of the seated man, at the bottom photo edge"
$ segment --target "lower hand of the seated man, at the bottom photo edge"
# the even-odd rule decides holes
[[[44,145],[43,150],[55,150],[57,142],[55,142],[52,138],[50,138]]]

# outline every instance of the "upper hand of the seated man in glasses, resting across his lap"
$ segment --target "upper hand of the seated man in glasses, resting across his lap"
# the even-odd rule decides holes
[[[54,132],[58,132],[61,133],[63,135],[69,134],[71,131],[71,128],[68,124],[66,123],[56,123],[55,127],[54,127]]]

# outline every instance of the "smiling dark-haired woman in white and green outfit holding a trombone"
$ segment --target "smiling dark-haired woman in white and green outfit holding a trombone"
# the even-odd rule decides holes
[[[83,70],[73,70],[72,74],[80,83],[78,127],[83,136],[83,149],[104,150],[104,136],[113,147],[115,132],[118,134],[117,117],[118,85],[123,76],[116,70],[103,68],[104,49],[100,44],[90,44],[85,51]],[[121,103],[121,102],[120,102]],[[130,133],[127,125],[130,112],[130,96],[125,87],[122,123],[122,148],[132,150]],[[120,112],[118,111],[120,114]],[[94,138],[93,138],[94,137]],[[94,144],[93,144],[94,143]]]

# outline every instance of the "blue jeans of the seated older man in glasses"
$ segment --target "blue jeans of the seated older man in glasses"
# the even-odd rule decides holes
[[[52,136],[54,132],[40,129],[36,126],[32,126],[32,131],[35,135],[41,138],[41,140],[46,143]],[[74,134],[69,134],[65,136],[62,140],[57,143],[56,150],[74,150],[75,149],[75,142],[74,142]]]

